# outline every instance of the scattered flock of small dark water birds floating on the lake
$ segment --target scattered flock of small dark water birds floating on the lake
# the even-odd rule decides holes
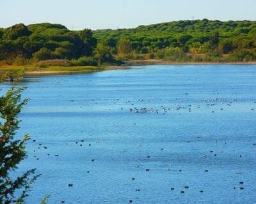
[[[174,98],[170,99],[168,104],[164,103],[164,105],[161,106],[154,106],[154,99],[138,99],[138,101],[131,101],[131,100],[121,100],[119,98],[116,99],[92,99],[88,102],[88,105],[97,105],[100,101],[108,101],[109,108],[105,111],[111,111],[114,110],[115,112],[123,112],[125,114],[133,114],[133,113],[156,113],[156,114],[168,114],[168,113],[177,113],[178,115],[182,114],[188,114],[188,113],[193,113],[193,112],[199,112],[200,109],[204,110],[205,112],[208,113],[216,113],[218,111],[223,112],[226,109],[229,111],[232,111],[232,106],[236,108],[236,104],[239,103],[240,101],[238,99],[224,99],[224,98],[206,98],[202,99],[200,103],[189,103],[189,94],[188,92],[185,92],[183,94],[183,98]],[[109,101],[112,101],[109,103]],[[70,100],[71,103],[76,102],[76,100],[72,99]],[[136,103],[138,103],[136,105]],[[256,101],[248,101],[248,111],[254,111]],[[148,104],[148,106],[147,106]],[[86,107],[86,106],[85,106]],[[79,106],[80,109],[83,109],[84,106],[81,105]],[[136,123],[134,123],[136,125]],[[199,137],[198,137],[199,138]],[[189,143],[190,141],[184,141],[186,143]],[[218,140],[215,141],[218,143]],[[34,153],[36,153],[39,149],[44,150],[45,155],[47,157],[54,156],[54,157],[61,157],[61,152],[58,154],[51,154],[51,148],[48,148],[47,145],[44,145],[42,141],[38,142],[37,140],[33,140],[33,143],[35,143],[36,149],[33,150]],[[87,147],[90,148],[92,145],[97,145],[97,143],[100,143],[99,140],[96,140],[94,143],[92,142],[87,142],[85,139],[81,139],[78,141],[73,142],[74,145],[76,145],[76,148],[78,147]],[[70,145],[70,143],[65,143],[65,145]],[[256,145],[256,143],[252,143],[252,145]],[[140,148],[142,148],[143,145],[140,145]],[[164,149],[161,148],[159,151],[163,151]],[[124,150],[125,152],[125,150]],[[209,152],[205,152],[205,154],[202,155],[202,158],[207,159],[207,157],[212,154],[214,157],[217,157],[218,154],[223,154],[223,149],[220,149],[219,152],[217,153],[216,151],[209,150]],[[40,160],[40,157],[38,157],[38,154],[34,155],[36,160]],[[237,157],[242,157],[242,155],[239,155]],[[150,155],[145,155],[145,158],[150,159]],[[92,157],[90,158],[90,162],[97,162],[97,158]],[[134,166],[134,168],[141,168],[140,164]],[[150,171],[150,168],[145,168],[145,171]],[[166,171],[179,171],[182,172],[182,169],[177,169],[173,170],[170,167],[166,168]],[[204,173],[208,173],[209,169],[202,170]],[[91,170],[84,170],[84,173],[91,173]],[[136,177],[131,177],[134,182],[136,181]],[[67,187],[72,188],[76,184],[73,183],[67,183]],[[237,180],[237,186],[234,186],[233,189],[239,189],[239,190],[244,190],[244,181],[243,180]],[[189,189],[193,188],[193,186],[187,186],[185,185],[184,187],[176,187],[176,186],[170,186],[170,192],[177,191],[180,194],[185,194],[186,191],[189,191]],[[137,193],[140,193],[143,191],[141,188],[136,188],[135,191]],[[198,193],[203,194],[204,193],[204,187],[202,186],[201,189],[198,189]],[[131,200],[127,200],[128,203],[132,203]],[[60,201],[60,203],[65,203],[65,200]]]

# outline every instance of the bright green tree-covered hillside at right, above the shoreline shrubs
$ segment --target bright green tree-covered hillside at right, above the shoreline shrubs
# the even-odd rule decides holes
[[[97,40],[115,47],[120,38],[132,42],[132,48],[138,52],[166,47],[182,47],[189,51],[189,45],[204,44],[218,32],[219,42],[232,41],[234,47],[224,50],[226,53],[236,47],[255,48],[256,21],[227,21],[219,20],[180,20],[153,25],[140,25],[134,29],[105,29],[93,31]],[[218,42],[218,43],[219,43]]]

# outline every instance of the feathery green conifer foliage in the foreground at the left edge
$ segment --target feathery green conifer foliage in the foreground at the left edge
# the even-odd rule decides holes
[[[24,203],[31,184],[40,176],[35,175],[35,169],[32,169],[17,178],[12,177],[20,161],[28,156],[25,148],[29,135],[24,135],[21,140],[15,139],[20,122],[17,116],[28,103],[28,99],[20,101],[20,92],[24,89],[13,85],[0,97],[0,203],[5,204]],[[19,198],[15,198],[18,189],[22,189],[22,193]]]

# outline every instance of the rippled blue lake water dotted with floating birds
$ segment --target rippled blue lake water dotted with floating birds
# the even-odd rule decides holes
[[[42,174],[28,203],[256,202],[254,65],[137,66],[20,85],[31,100],[19,134],[31,140],[18,171]]]

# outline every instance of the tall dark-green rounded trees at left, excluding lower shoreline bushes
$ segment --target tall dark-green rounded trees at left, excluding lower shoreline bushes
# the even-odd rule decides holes
[[[0,30],[0,60],[24,56],[38,57],[38,52],[50,50],[47,59],[72,59],[92,55],[97,41],[90,29],[69,31],[60,24],[17,24]]]

